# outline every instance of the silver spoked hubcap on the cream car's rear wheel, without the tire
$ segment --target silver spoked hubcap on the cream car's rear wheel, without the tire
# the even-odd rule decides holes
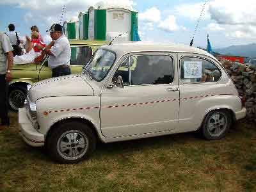
[[[207,122],[207,131],[211,136],[220,136],[227,129],[227,116],[224,113],[213,113]]]

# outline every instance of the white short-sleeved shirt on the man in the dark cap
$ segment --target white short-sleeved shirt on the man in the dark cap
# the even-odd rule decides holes
[[[60,36],[50,50],[53,56],[49,57],[49,67],[55,68],[60,65],[70,65],[71,48],[65,35]]]

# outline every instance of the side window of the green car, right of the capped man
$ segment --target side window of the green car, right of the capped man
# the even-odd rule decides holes
[[[91,47],[71,47],[70,65],[85,65],[92,58]]]

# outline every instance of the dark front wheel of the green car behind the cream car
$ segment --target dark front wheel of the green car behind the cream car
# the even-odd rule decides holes
[[[13,109],[18,110],[24,107],[25,99],[26,95],[21,90],[12,90],[9,95],[9,104]]]

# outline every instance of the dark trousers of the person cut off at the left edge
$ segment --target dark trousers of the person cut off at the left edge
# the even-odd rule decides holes
[[[8,117],[8,104],[7,104],[7,83],[5,80],[5,74],[0,74],[0,118],[2,125],[9,125]]]

